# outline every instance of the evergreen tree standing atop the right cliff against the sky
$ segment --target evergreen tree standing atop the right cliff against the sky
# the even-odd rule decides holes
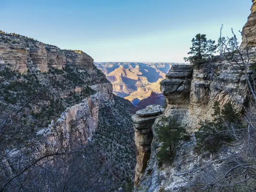
[[[198,33],[192,39],[192,47],[190,47],[190,52],[188,52],[192,56],[185,57],[184,60],[195,65],[200,65],[213,56],[212,54],[216,52],[216,48],[215,41],[211,39],[207,40],[205,34]]]

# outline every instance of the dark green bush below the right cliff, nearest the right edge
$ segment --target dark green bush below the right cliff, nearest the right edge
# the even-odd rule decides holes
[[[240,114],[236,112],[230,102],[220,108],[218,102],[213,106],[213,121],[201,122],[201,127],[195,133],[197,145],[196,151],[209,151],[215,153],[224,143],[233,141],[235,135],[233,133],[241,128]],[[230,130],[230,125],[232,130]]]

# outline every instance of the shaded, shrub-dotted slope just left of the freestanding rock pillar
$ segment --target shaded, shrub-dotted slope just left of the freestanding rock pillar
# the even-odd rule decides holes
[[[115,104],[99,111],[99,127],[93,136],[93,148],[105,151],[105,159],[111,162],[109,177],[116,180],[119,188],[126,181],[125,191],[130,192],[133,183],[129,177],[134,175],[136,149],[131,115],[135,107],[128,100],[113,95]]]

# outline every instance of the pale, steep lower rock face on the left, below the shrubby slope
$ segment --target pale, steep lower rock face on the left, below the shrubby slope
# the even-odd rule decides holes
[[[99,99],[96,93],[84,99],[81,103],[67,108],[56,123],[52,122],[49,128],[39,131],[39,134],[48,134],[46,143],[48,151],[57,150],[58,146],[67,146],[78,140],[85,145],[87,140],[98,128]],[[51,130],[55,130],[51,133]]]

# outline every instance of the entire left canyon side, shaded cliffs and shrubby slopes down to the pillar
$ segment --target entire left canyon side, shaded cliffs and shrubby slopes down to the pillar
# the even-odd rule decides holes
[[[145,83],[143,79],[141,82]],[[83,190],[86,186],[90,186],[89,191],[113,190],[122,181],[134,177],[135,150],[131,124],[134,106],[128,100],[113,95],[112,84],[96,68],[89,55],[0,31],[0,84],[1,118],[15,116],[16,122],[11,119],[12,124],[8,126],[15,126],[15,131],[19,126],[28,128],[27,135],[31,135],[23,139],[24,145],[18,145],[17,154],[22,158],[6,154],[4,161],[7,167],[4,170],[18,172],[23,165],[31,163],[28,157],[70,151],[72,146],[83,149],[76,156],[60,158],[53,167],[50,163],[48,166],[51,168],[47,168],[47,174],[55,175],[55,171],[64,169],[61,167],[64,162],[69,162],[66,164],[69,169],[66,175],[65,172],[55,175],[56,179],[62,180],[71,174],[73,178],[67,181],[67,191],[74,187]],[[19,113],[21,115],[17,116]],[[35,142],[31,144],[36,147],[35,151],[23,153],[29,148],[28,141],[31,139]],[[12,137],[12,140],[14,145],[16,138]],[[3,147],[6,148],[1,148],[1,151],[13,146]],[[43,165],[47,166],[47,162]],[[106,167],[109,169],[105,170]],[[80,171],[73,173],[76,169]],[[0,172],[0,175],[7,174]],[[102,174],[99,175],[99,172]],[[35,178],[45,177],[41,174],[46,173],[37,172]],[[45,191],[48,191],[47,187],[52,190],[52,187],[61,185],[51,181],[51,176],[47,178],[49,180],[38,179],[34,184],[41,185]],[[103,183],[104,186],[99,187]],[[29,190],[35,190],[34,184],[26,183]]]

